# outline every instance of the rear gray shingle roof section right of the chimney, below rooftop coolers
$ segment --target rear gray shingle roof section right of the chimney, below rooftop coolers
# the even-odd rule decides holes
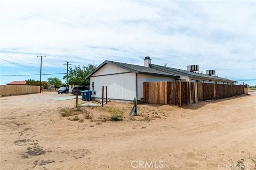
[[[182,69],[178,69],[178,68],[159,66],[159,65],[156,65],[156,64],[150,64],[150,66],[155,67],[155,68],[156,67],[162,68],[164,70],[169,70],[169,71],[172,71],[174,74],[178,73],[178,74],[183,74],[183,75],[187,75],[187,76],[191,76],[191,77],[207,78],[208,80],[210,79],[210,80],[222,80],[222,81],[225,81],[225,82],[236,82],[234,80],[229,80],[229,79],[222,78],[222,77],[210,76],[210,75],[203,74],[203,73],[198,73],[198,72],[190,72],[190,71],[182,70]]]

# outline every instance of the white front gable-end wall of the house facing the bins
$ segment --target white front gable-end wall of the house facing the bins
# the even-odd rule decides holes
[[[92,89],[92,82],[94,82],[94,91],[96,95],[92,93],[93,98],[102,98],[102,86],[104,86],[104,98],[106,97],[105,86],[108,86],[108,98],[118,100],[134,100],[135,97],[135,73],[114,74],[121,72],[128,72],[123,68],[106,64],[94,75],[96,77],[90,78],[90,89]],[[99,76],[104,74],[114,74],[108,76]]]

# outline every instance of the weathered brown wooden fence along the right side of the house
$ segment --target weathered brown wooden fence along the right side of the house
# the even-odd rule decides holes
[[[144,82],[144,102],[184,106],[245,94],[244,85],[194,82]]]

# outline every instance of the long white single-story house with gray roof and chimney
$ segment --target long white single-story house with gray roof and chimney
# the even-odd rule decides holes
[[[145,57],[144,66],[104,61],[86,79],[90,80],[93,99],[101,99],[102,86],[107,86],[108,99],[121,102],[131,102],[135,97],[138,101],[143,100],[143,82],[206,80],[235,83],[217,76],[151,64],[150,57]]]

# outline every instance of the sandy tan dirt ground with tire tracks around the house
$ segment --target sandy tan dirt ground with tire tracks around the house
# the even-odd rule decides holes
[[[186,107],[140,104],[134,118],[132,104],[109,102],[83,107],[77,115],[83,121],[62,117],[60,109],[74,107],[75,99],[51,100],[58,96],[0,98],[1,170],[226,170],[250,169],[256,161],[256,95]],[[107,121],[109,108],[123,110],[124,121]]]

